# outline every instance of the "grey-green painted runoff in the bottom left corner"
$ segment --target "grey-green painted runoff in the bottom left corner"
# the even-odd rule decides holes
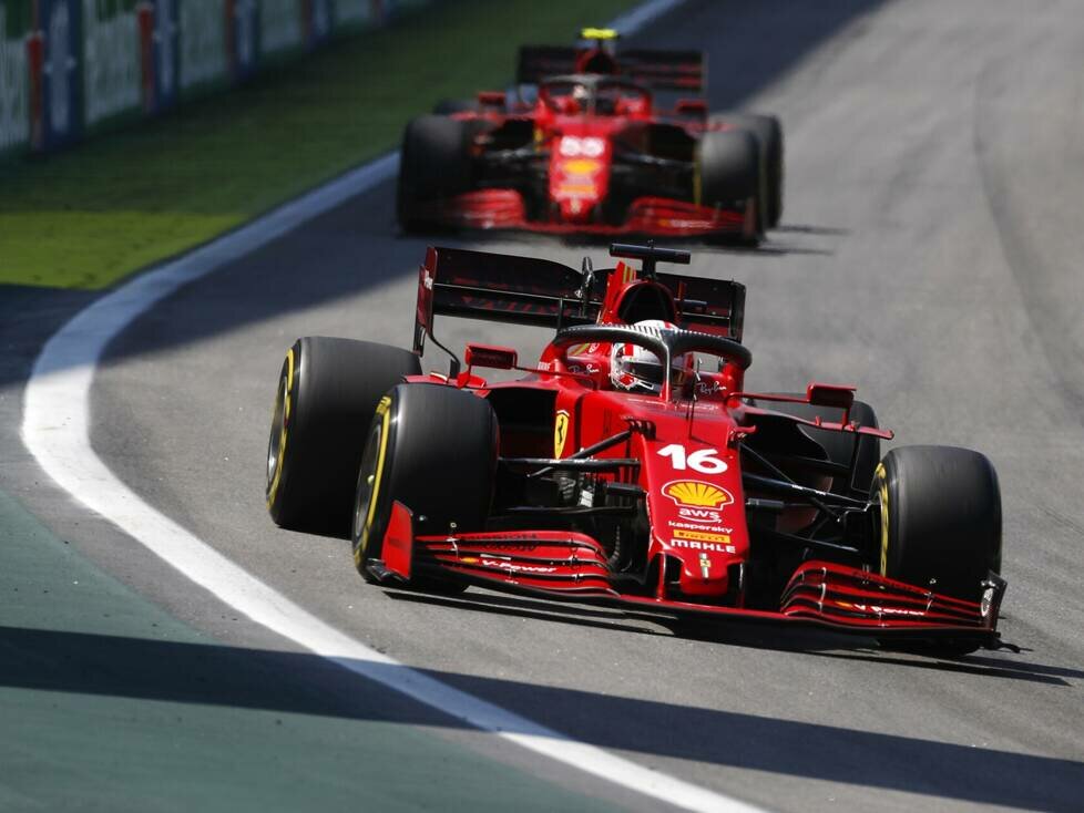
[[[613,810],[216,644],[3,492],[0,552],[0,810]]]

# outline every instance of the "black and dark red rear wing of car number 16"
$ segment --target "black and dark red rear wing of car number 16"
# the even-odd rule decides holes
[[[422,352],[427,336],[433,338],[437,316],[553,330],[592,325],[614,270],[584,272],[535,257],[431,246],[418,277],[415,352]],[[674,297],[681,327],[742,340],[744,285],[678,274],[655,279]]]

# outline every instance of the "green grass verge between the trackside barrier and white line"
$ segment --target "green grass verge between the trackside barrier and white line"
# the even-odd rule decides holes
[[[437,100],[504,88],[520,44],[571,43],[635,4],[441,2],[158,120],[0,163],[0,286],[108,287],[395,147]]]

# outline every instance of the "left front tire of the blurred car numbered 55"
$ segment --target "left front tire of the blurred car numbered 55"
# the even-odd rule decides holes
[[[447,115],[418,116],[407,124],[396,191],[396,213],[403,229],[417,231],[437,225],[425,206],[471,189],[473,132],[470,122]]]

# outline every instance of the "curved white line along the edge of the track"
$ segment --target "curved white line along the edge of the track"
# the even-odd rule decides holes
[[[613,28],[632,33],[683,0],[655,0]],[[387,155],[221,239],[136,277],[76,315],[42,348],[27,382],[22,439],[61,488],[222,601],[316,655],[463,722],[535,753],[692,811],[751,813],[758,809],[636,762],[576,742],[519,714],[453,689],[344,635],[252,576],[132,492],[94,454],[90,391],[109,342],[182,286],[214,272],[301,223],[390,178]]]

